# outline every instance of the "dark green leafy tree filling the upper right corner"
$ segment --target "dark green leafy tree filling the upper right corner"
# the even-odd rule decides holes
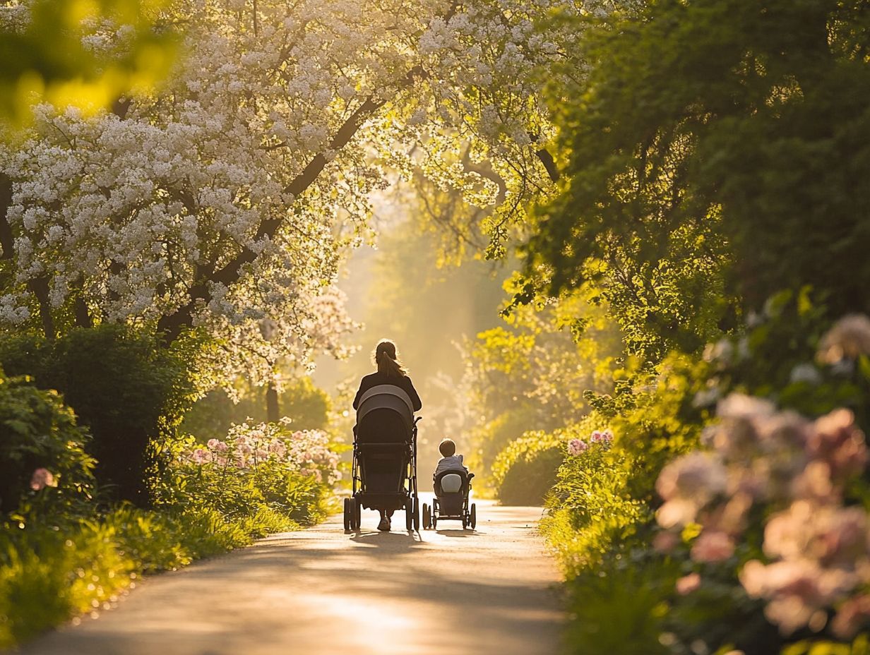
[[[868,49],[866,3],[659,0],[599,21],[587,75],[552,98],[565,184],[528,261],[553,288],[599,281],[653,356],[782,288],[867,311]]]

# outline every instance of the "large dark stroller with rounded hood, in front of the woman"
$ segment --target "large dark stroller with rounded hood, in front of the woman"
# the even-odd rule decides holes
[[[359,399],[353,428],[353,491],[345,498],[345,530],[358,530],[366,510],[405,510],[405,527],[419,530],[417,422],[411,398],[380,384]]]

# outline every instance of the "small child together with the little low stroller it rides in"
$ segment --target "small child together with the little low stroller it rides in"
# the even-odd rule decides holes
[[[462,527],[477,525],[477,509],[469,504],[472,490],[473,473],[462,462],[462,455],[456,454],[456,444],[452,439],[444,439],[438,444],[441,459],[432,475],[435,498],[432,507],[423,505],[423,526],[434,528],[439,518],[452,518],[462,521]]]

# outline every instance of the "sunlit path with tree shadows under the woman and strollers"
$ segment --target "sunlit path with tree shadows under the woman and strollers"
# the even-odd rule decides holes
[[[430,497],[424,495],[426,502]],[[478,501],[476,531],[409,534],[341,516],[144,580],[113,610],[37,640],[29,655],[554,655],[559,574],[540,508]],[[397,520],[398,519],[398,520]]]

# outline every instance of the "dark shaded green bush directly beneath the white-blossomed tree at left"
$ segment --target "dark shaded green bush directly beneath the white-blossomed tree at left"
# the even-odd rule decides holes
[[[144,331],[118,324],[71,330],[56,341],[30,335],[0,341],[0,363],[64,394],[90,429],[88,453],[110,498],[149,503],[146,478],[160,442],[171,435],[195,393],[185,349],[160,347]]]

